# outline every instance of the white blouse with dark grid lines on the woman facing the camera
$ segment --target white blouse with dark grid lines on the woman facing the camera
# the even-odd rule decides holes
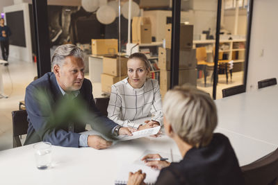
[[[115,83],[111,88],[108,118],[124,127],[138,128],[133,120],[152,116],[152,120],[163,123],[161,91],[158,81],[148,79],[140,89],[133,89],[128,78]]]

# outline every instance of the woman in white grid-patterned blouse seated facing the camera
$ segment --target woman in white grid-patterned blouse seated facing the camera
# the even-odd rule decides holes
[[[128,77],[111,87],[108,118],[123,127],[143,130],[162,125],[161,92],[158,81],[149,78],[151,66],[143,53],[133,53],[127,61]],[[138,118],[152,116],[150,120],[132,123]]]

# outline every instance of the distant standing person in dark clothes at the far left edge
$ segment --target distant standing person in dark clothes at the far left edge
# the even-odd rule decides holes
[[[5,21],[3,18],[0,18],[0,46],[2,52],[3,60],[8,62],[9,54],[9,37],[11,35],[10,28],[4,25]],[[5,64],[7,66],[8,63]]]

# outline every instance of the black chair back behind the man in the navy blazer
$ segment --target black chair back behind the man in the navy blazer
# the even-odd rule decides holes
[[[13,148],[22,146],[19,136],[27,134],[28,121],[26,109],[12,112],[13,117]]]

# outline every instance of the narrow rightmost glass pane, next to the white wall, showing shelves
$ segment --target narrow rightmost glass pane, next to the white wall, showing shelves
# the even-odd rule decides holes
[[[248,0],[222,0],[216,99],[222,89],[244,84],[248,5]]]

